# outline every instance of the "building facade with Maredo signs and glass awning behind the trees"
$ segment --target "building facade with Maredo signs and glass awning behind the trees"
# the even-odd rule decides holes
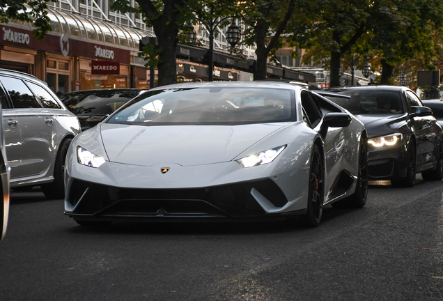
[[[149,88],[150,70],[139,57],[143,37],[154,37],[141,14],[111,10],[114,0],[60,0],[49,2],[52,31],[43,40],[32,36],[31,24],[0,24],[0,68],[36,75],[54,91],[65,93],[91,88]],[[134,0],[130,0],[137,7]],[[208,32],[195,25],[203,47],[178,45],[179,82],[208,80]],[[228,52],[226,28],[215,38],[214,80],[252,80],[255,47],[242,46],[242,59]],[[313,81],[309,74],[270,64],[270,78]],[[157,70],[155,70],[155,76]]]

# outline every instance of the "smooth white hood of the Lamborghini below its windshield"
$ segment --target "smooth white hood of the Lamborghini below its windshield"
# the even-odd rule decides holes
[[[101,136],[111,162],[192,166],[231,161],[283,125],[137,126],[102,123]]]

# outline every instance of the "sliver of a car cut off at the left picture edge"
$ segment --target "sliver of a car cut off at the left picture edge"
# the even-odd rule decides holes
[[[6,100],[1,99],[0,113],[2,111],[2,104]],[[3,136],[3,116],[0,114],[0,194],[3,196],[3,202],[0,206],[0,241],[3,240],[6,234],[6,228],[8,227],[9,216],[9,167],[8,160],[6,160],[5,139]]]

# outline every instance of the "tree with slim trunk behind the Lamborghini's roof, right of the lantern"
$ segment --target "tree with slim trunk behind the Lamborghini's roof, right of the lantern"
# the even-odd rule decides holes
[[[293,17],[295,0],[241,1],[242,17],[247,25],[245,43],[256,45],[254,80],[266,79],[267,57],[281,46],[281,35]]]

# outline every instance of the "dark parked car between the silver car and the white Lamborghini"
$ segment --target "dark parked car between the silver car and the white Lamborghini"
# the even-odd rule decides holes
[[[142,91],[146,90],[138,88],[84,90],[64,93],[59,98],[72,113],[77,115],[81,130],[84,131],[91,128],[86,123],[88,118],[101,120],[102,117],[111,114]]]

